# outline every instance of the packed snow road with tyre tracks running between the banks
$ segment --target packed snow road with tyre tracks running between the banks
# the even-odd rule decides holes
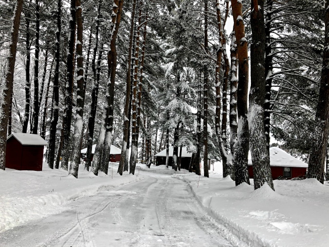
[[[154,174],[6,231],[0,246],[232,246],[212,222],[184,181]]]

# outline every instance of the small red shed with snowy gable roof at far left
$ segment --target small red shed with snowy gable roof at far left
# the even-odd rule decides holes
[[[48,143],[35,134],[13,133],[7,138],[6,168],[42,171],[43,150]]]

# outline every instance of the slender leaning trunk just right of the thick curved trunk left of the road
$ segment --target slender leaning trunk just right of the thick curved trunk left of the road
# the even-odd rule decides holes
[[[125,161],[125,152],[128,142],[128,110],[129,110],[129,99],[130,99],[130,87],[131,87],[131,59],[132,59],[132,47],[133,47],[133,34],[134,34],[134,21],[135,21],[135,9],[136,9],[136,0],[133,0],[133,9],[131,13],[131,26],[130,26],[130,37],[129,37],[129,49],[128,49],[128,61],[127,61],[127,74],[126,74],[126,95],[125,95],[125,104],[123,111],[123,139],[122,139],[122,149],[121,157],[118,168],[118,173],[122,175],[124,161]]]

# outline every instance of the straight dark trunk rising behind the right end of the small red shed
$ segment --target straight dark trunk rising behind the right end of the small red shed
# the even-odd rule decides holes
[[[34,101],[33,101],[33,127],[32,133],[38,134],[39,123],[39,32],[40,32],[40,6],[39,0],[35,0],[35,52],[34,52]]]

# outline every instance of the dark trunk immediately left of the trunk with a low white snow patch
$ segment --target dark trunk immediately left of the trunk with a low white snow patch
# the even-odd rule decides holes
[[[76,0],[70,1],[70,19],[69,19],[69,37],[66,59],[66,84],[65,84],[65,113],[64,122],[64,139],[62,153],[62,169],[68,169],[68,159],[71,153],[71,121],[72,121],[72,97],[73,97],[73,70],[74,70],[74,50],[76,36]]]

